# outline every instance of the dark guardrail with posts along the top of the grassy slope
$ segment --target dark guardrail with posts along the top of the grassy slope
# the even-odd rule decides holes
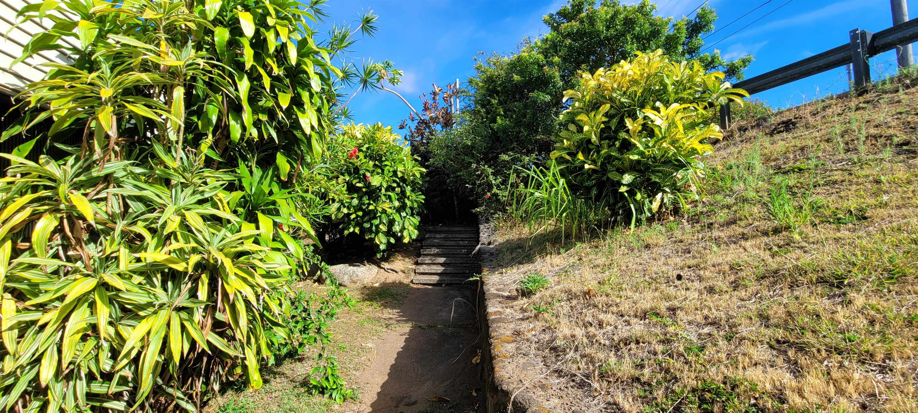
[[[849,39],[848,43],[841,46],[751,77],[733,84],[733,87],[744,89],[749,95],[755,95],[846,64],[852,65],[855,87],[861,87],[870,82],[869,57],[893,50],[902,44],[918,41],[918,18],[876,33],[855,28],[849,32]],[[721,128],[729,128],[732,123],[730,105],[721,106]]]

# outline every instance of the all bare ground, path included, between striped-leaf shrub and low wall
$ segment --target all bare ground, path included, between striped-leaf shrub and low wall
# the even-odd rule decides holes
[[[348,289],[355,304],[330,323],[321,348],[338,359],[342,378],[358,397],[337,405],[312,396],[305,383],[319,346],[264,367],[264,385],[244,381],[209,403],[217,413],[478,413],[485,411],[478,357],[476,288],[412,285],[418,243],[400,246],[364,285]],[[318,296],[311,282],[297,289]]]

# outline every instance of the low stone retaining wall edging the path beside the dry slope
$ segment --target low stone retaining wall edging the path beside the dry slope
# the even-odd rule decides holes
[[[482,382],[487,396],[487,413],[554,412],[542,406],[533,396],[537,387],[527,387],[521,384],[521,380],[512,380],[509,375],[508,363],[512,362],[519,337],[510,329],[510,319],[504,317],[503,306],[519,298],[516,282],[502,279],[500,273],[494,272],[498,259],[494,225],[487,221],[479,222],[478,238],[478,257],[482,267],[478,284],[478,314],[481,316],[481,337],[484,338]]]

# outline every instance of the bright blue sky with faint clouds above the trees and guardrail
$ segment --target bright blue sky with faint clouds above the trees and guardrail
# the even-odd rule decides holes
[[[709,0],[718,13],[717,28],[762,4],[765,0]],[[785,3],[773,0],[729,28],[711,36],[712,44],[743,28]],[[431,84],[460,81],[474,74],[473,58],[478,51],[511,53],[525,36],[547,31],[542,17],[564,5],[566,0],[330,0],[328,11],[338,22],[353,20],[364,10],[379,15],[375,38],[360,40],[354,60],[393,61],[405,72],[396,86],[412,105]],[[659,0],[660,16],[681,17],[701,0]],[[626,1],[633,3],[633,1]],[[918,15],[918,0],[910,1],[912,17]],[[892,25],[889,0],[794,0],[715,46],[725,57],[752,53],[756,61],[746,71],[751,77],[777,69],[846,43],[848,31],[863,28],[879,31]],[[918,50],[915,50],[918,52]],[[890,51],[871,59],[874,77],[895,73],[895,55]],[[755,95],[769,105],[787,107],[813,98],[847,90],[844,68],[812,76]],[[397,126],[408,108],[395,95],[357,95],[351,102],[356,122],[383,122]]]

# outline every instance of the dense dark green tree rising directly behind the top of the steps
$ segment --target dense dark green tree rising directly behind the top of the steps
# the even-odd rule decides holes
[[[558,70],[532,51],[487,56],[475,70],[471,105],[431,140],[430,162],[457,194],[488,208],[506,193],[514,165],[541,163],[551,151],[564,89]]]

